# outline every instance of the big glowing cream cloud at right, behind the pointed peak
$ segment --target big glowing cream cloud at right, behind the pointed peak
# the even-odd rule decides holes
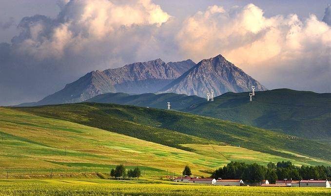
[[[266,17],[253,4],[228,11],[211,6],[183,24],[176,40],[186,57],[221,53],[269,88],[331,92],[331,27],[314,15],[300,20]]]

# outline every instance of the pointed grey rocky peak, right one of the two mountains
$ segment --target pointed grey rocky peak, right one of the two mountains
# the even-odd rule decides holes
[[[252,86],[255,86],[256,91],[266,90],[259,82],[227,61],[222,55],[218,55],[200,61],[164,87],[161,92],[206,97],[211,89],[214,89],[214,96],[218,96],[226,92],[250,91]]]

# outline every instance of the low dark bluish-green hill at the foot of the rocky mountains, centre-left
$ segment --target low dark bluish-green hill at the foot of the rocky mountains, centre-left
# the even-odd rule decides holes
[[[184,94],[178,95],[175,93],[163,93],[163,94],[140,94],[129,95],[126,93],[106,93],[98,95],[94,98],[90,98],[84,102],[96,102],[96,103],[116,103],[121,105],[135,105],[140,107],[151,107],[166,109],[167,102],[170,102],[171,108],[175,110],[183,110],[192,104],[205,101],[205,98],[197,96],[187,96]]]

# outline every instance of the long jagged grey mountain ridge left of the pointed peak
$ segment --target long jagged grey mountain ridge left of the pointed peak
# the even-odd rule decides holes
[[[81,102],[109,92],[156,92],[194,65],[192,60],[166,64],[156,59],[115,69],[92,71],[34,105]]]

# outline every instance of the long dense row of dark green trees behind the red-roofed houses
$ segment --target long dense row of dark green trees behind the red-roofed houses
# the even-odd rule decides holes
[[[331,177],[331,167],[325,166],[295,166],[290,161],[268,163],[267,167],[257,163],[246,164],[231,162],[223,168],[216,169],[212,178],[218,179],[242,179],[250,181],[292,179],[327,179]]]

